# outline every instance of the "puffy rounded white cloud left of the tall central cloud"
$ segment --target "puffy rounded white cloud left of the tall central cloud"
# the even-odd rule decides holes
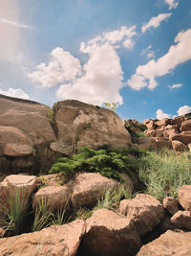
[[[29,73],[28,77],[39,82],[43,87],[53,87],[59,82],[73,81],[75,76],[81,74],[81,65],[77,58],[62,48],[55,48],[51,53],[51,60],[46,65],[40,63],[37,70]]]

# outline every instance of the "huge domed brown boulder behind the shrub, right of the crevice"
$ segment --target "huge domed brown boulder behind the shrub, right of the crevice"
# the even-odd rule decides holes
[[[54,104],[53,112],[59,145],[74,149],[81,146],[97,149],[103,145],[112,148],[132,145],[131,136],[122,121],[109,109],[68,100]]]

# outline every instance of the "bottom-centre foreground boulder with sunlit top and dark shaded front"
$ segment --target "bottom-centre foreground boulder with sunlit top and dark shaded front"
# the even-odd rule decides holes
[[[86,235],[82,241],[85,255],[135,255],[140,239],[135,225],[128,218],[107,209],[94,212],[86,221]]]

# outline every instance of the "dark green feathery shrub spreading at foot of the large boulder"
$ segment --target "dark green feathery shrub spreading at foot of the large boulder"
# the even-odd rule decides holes
[[[80,148],[71,158],[61,157],[53,164],[50,174],[63,173],[71,178],[77,172],[100,173],[122,181],[119,173],[136,171],[137,156],[144,153],[136,149],[98,150]]]

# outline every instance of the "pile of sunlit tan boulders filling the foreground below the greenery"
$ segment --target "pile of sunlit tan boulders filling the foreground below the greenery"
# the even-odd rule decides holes
[[[55,178],[55,176],[52,178]],[[39,188],[33,175],[9,175],[0,183],[0,200],[10,207],[11,192],[20,192],[32,208],[44,198],[49,209],[90,206],[107,188],[118,182],[99,174],[78,174],[64,185],[46,184]],[[48,178],[47,178],[48,180]],[[2,205],[2,204],[1,204]],[[0,212],[3,213],[0,207]],[[2,220],[3,215],[1,215]],[[116,210],[97,209],[87,220],[52,225],[40,231],[4,237],[0,225],[1,255],[190,255],[191,185],[179,189],[179,198],[159,202],[145,194],[122,199]],[[152,239],[147,239],[152,234]],[[4,237],[4,238],[3,238]]]

